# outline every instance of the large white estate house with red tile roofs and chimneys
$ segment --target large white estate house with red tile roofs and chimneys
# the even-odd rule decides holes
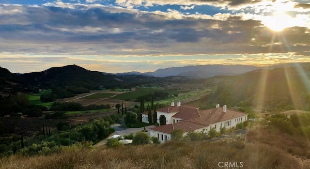
[[[226,129],[236,126],[238,123],[247,121],[248,114],[227,108],[226,105],[216,108],[201,110],[193,106],[177,106],[171,103],[168,108],[156,110],[158,127],[151,129],[150,136],[158,137],[160,142],[171,139],[171,132],[175,129],[183,129],[184,135],[189,131],[200,132],[203,129],[209,132],[211,128],[219,131],[221,127]],[[153,113],[153,112],[152,112]],[[149,123],[148,112],[142,113],[142,122]]]

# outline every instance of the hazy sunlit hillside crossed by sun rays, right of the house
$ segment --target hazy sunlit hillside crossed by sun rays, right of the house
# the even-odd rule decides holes
[[[210,100],[239,107],[290,110],[309,109],[309,67],[255,70],[237,76],[220,76],[217,91]]]

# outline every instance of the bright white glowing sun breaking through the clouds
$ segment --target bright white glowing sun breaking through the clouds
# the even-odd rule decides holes
[[[262,23],[272,31],[282,31],[292,27],[292,17],[286,14],[265,16]]]

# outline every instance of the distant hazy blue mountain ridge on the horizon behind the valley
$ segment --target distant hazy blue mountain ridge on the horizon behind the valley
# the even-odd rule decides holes
[[[155,77],[186,76],[186,77],[213,77],[216,75],[238,75],[260,69],[248,65],[196,65],[184,67],[170,67],[158,69],[155,72],[144,74]]]

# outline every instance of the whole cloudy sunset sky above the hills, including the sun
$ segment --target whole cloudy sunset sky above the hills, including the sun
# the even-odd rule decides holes
[[[310,0],[0,0],[13,73],[287,62],[310,62]]]

